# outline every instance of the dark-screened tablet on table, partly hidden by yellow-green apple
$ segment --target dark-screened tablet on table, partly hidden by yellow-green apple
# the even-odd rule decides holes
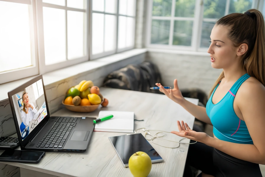
[[[120,157],[124,167],[129,166],[128,162],[131,155],[138,151],[147,153],[152,163],[163,162],[163,158],[140,133],[109,137],[109,140]]]

